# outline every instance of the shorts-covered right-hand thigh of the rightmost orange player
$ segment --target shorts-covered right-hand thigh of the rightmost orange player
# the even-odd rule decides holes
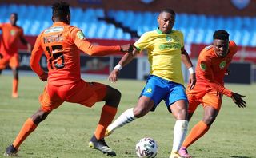
[[[216,91],[208,92],[202,97],[202,105],[211,106],[218,111],[221,109],[222,105],[222,94]]]

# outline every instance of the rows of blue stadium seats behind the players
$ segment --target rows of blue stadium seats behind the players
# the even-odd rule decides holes
[[[26,14],[27,12],[30,14]],[[0,22],[8,22],[9,14],[18,12],[18,25],[26,35],[36,36],[51,25],[50,6],[18,4],[0,5]],[[133,10],[107,10],[78,7],[71,8],[74,14],[71,25],[78,26],[87,38],[124,39],[138,38],[144,32],[154,30],[158,24],[158,12]],[[218,25],[216,25],[218,24]],[[90,28],[90,29],[89,29]],[[186,43],[209,44],[214,30],[225,29],[230,39],[241,46],[256,46],[256,18],[239,16],[213,16],[204,14],[177,14],[175,30],[182,30]]]

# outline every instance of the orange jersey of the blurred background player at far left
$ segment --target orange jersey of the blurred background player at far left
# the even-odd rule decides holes
[[[10,23],[0,24],[2,37],[0,39],[0,53],[3,55],[12,56],[18,53],[18,41],[24,36],[20,26],[12,26]]]

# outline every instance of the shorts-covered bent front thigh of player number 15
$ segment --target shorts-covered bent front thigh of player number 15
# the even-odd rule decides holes
[[[73,89],[70,89],[70,96],[66,101],[79,103],[91,107],[106,97],[106,85],[98,82],[79,81]]]

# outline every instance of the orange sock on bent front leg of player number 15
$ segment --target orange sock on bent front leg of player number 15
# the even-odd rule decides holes
[[[114,108],[110,105],[103,106],[101,118],[98,122],[96,131],[94,132],[94,135],[98,140],[102,139],[105,136],[106,128],[114,119],[114,116],[117,113],[117,111],[117,108]]]

